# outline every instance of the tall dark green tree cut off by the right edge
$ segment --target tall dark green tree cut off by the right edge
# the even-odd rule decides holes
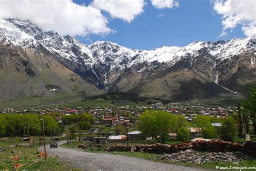
[[[253,124],[253,132],[256,134],[256,84],[248,93],[248,99],[244,102],[243,115],[246,124],[246,133],[249,134],[248,118],[250,117]]]

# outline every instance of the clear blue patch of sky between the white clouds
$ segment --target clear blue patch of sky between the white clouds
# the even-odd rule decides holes
[[[86,5],[91,1],[76,0],[77,4]],[[228,40],[234,37],[245,38],[241,26],[227,29],[227,35],[219,37],[223,25],[221,15],[213,10],[208,0],[180,0],[176,8],[155,8],[146,1],[144,12],[130,23],[111,18],[109,13],[102,12],[109,19],[109,28],[115,32],[109,35],[93,35],[77,38],[84,44],[97,40],[111,41],[119,45],[141,50],[151,50],[160,46],[186,46],[195,41]],[[163,15],[158,17],[158,15]]]

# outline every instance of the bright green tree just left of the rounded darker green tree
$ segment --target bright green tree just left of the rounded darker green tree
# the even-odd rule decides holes
[[[198,128],[201,128],[204,138],[214,138],[214,127],[212,126],[211,117],[204,115],[197,115],[194,123]]]

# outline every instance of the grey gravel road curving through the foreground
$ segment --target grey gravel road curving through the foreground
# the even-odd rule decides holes
[[[65,141],[59,142],[59,145],[63,143],[65,143]],[[169,165],[166,163],[153,162],[124,155],[88,153],[78,148],[49,147],[50,145],[46,146],[46,152],[48,154],[58,155],[60,161],[70,162],[73,166],[82,170],[206,170],[202,168]],[[43,146],[39,147],[39,151],[44,151]]]

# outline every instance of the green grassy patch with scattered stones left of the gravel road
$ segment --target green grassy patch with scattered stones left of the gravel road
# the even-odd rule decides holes
[[[40,143],[36,143],[35,147],[17,146],[11,148],[12,145],[17,145],[20,138],[15,138],[14,141],[10,139],[0,140],[0,170],[12,170],[15,164],[21,164],[21,168],[18,170],[71,170],[69,165],[64,165],[58,162],[58,156],[49,155],[46,160],[38,157],[38,146]],[[18,155],[19,160],[12,161],[9,159],[11,156]]]

